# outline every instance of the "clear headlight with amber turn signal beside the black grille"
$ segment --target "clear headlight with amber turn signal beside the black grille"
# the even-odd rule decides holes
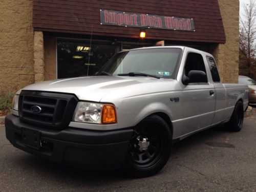
[[[78,102],[73,121],[109,124],[116,123],[116,111],[113,104]]]

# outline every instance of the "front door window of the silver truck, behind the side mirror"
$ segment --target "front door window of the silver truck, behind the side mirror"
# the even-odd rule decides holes
[[[191,75],[192,71],[197,73],[196,74],[194,73],[194,75]],[[208,82],[204,60],[201,54],[191,53],[191,52],[187,54],[183,75],[185,77],[194,76],[193,79],[190,78],[189,83],[207,83]],[[201,78],[201,75],[202,75],[202,78]],[[198,78],[195,78],[195,76],[198,76]]]

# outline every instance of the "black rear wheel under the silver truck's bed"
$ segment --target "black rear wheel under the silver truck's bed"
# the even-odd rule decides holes
[[[229,131],[239,132],[244,123],[244,108],[242,101],[238,101],[234,106],[234,111],[230,120],[225,124]]]

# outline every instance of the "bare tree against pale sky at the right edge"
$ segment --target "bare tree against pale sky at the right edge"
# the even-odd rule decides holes
[[[251,74],[251,66],[255,61],[256,46],[256,4],[255,0],[250,0],[250,4],[243,4],[244,14],[240,16],[240,62],[243,60],[248,68],[248,76]],[[242,57],[242,58],[241,58]]]

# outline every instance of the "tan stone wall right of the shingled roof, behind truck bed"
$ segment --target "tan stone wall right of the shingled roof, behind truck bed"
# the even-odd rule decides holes
[[[218,0],[224,30],[225,44],[211,46],[222,82],[238,82],[239,74],[239,0]]]

